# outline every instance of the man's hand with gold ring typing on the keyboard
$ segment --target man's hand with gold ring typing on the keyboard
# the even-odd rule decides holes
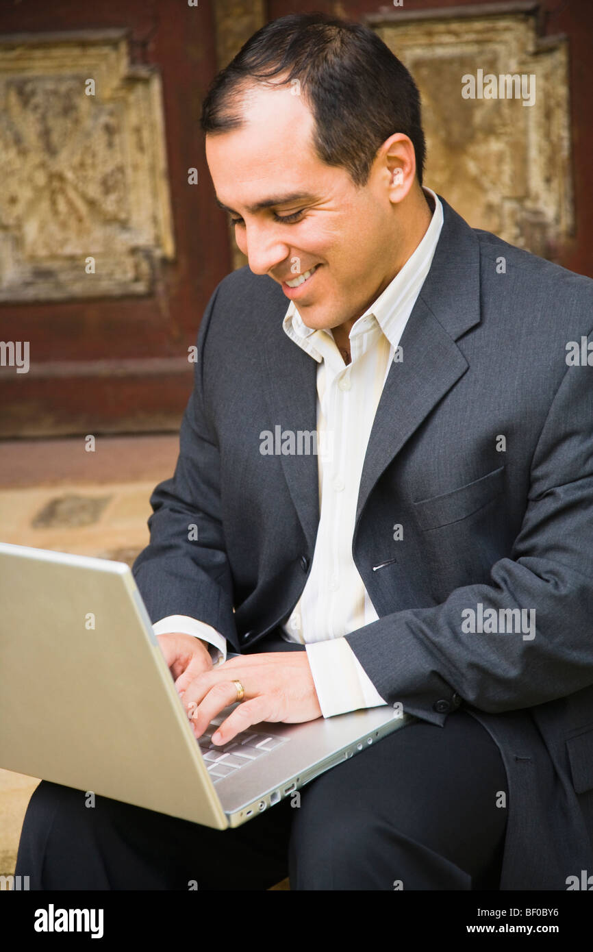
[[[270,651],[231,658],[212,670],[199,673],[188,684],[184,706],[196,737],[228,704],[237,700],[237,686],[245,695],[212,737],[227,744],[236,734],[260,721],[300,724],[322,716],[306,651]]]

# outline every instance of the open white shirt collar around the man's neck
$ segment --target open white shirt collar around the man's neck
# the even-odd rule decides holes
[[[418,248],[409,256],[403,268],[395,275],[393,280],[387,285],[379,297],[368,307],[364,314],[358,318],[350,330],[350,337],[359,333],[366,332],[368,328],[368,318],[376,319],[381,327],[385,337],[393,347],[399,343],[402,327],[402,319],[406,319],[409,310],[405,308],[406,301],[411,298],[415,301],[418,292],[424,284],[425,277],[432,264],[437,243],[443,228],[443,205],[438,195],[431,189],[423,186],[426,195],[432,198],[434,211],[430,224],[426,228],[425,235]],[[306,327],[298,308],[294,301],[290,301],[287,313],[283,321],[283,328],[287,336],[306,350],[316,361],[321,362],[323,354],[315,347],[315,343],[325,343],[325,337],[333,341],[333,334],[329,330],[317,330],[314,327]],[[320,340],[320,335],[324,338]]]

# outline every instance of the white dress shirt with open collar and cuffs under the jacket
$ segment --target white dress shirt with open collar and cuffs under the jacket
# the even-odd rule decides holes
[[[287,641],[306,645],[324,717],[386,704],[347,644],[350,631],[376,622],[377,615],[352,559],[352,536],[368,437],[391,363],[404,360],[399,347],[443,227],[443,206],[434,204],[425,236],[376,301],[349,333],[350,363],[330,329],[306,327],[291,301],[283,327],[288,337],[319,364],[317,433],[320,520],[309,575],[283,627]],[[215,663],[227,657],[226,639],[210,625],[186,615],[169,615],[153,625],[155,635],[179,631],[211,645]]]

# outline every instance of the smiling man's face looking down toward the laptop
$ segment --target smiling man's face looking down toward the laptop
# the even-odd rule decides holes
[[[219,202],[241,219],[235,236],[249,268],[282,285],[307,327],[360,317],[397,271],[402,239],[388,169],[376,163],[357,188],[346,169],[323,163],[312,146],[313,116],[290,87],[252,89],[243,116],[241,129],[208,135],[206,152]],[[289,195],[304,197],[282,200]],[[305,284],[287,287],[309,268]]]

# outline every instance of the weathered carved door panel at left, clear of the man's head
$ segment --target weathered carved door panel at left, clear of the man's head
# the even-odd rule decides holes
[[[159,74],[124,30],[0,36],[0,301],[146,294],[172,258]]]

